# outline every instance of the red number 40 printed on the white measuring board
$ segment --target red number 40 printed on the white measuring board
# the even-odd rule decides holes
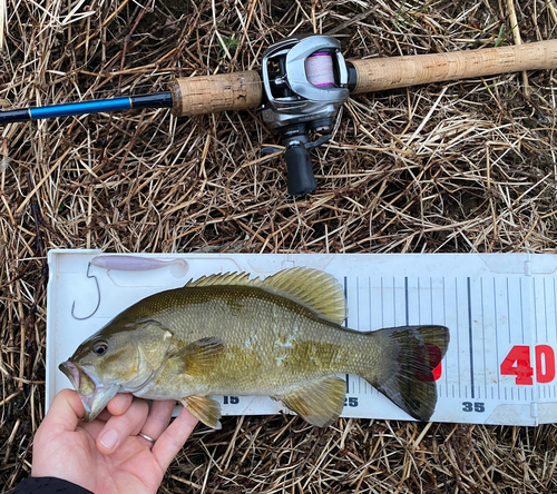
[[[515,345],[501,363],[504,376],[517,376],[515,383],[534,384],[534,368],[530,364],[530,347]],[[536,381],[547,384],[555,379],[555,352],[549,345],[536,346]]]

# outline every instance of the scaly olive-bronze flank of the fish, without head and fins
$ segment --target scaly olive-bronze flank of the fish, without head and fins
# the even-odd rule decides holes
[[[177,349],[206,336],[218,337],[226,348],[195,383],[187,374],[176,375],[172,365],[163,369],[138,393],[146,398],[164,399],[176,388],[184,396],[270,395],[322,375],[356,373],[362,356],[368,364],[374,357],[369,338],[262,288],[176,289],[147,298],[138,309],[128,316],[160,322]]]

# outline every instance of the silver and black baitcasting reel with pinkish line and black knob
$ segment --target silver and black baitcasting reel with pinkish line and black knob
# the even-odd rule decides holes
[[[340,48],[330,36],[300,34],[263,53],[262,117],[286,147],[289,194],[293,196],[315,190],[309,150],[331,138],[328,132],[350,95],[349,69]],[[312,132],[323,136],[312,141]]]

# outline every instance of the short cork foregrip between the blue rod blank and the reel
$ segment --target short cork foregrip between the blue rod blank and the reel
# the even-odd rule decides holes
[[[176,79],[169,89],[176,117],[257,108],[263,93],[255,70]]]

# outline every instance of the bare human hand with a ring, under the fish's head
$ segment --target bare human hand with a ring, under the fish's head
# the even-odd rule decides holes
[[[95,494],[156,493],[197,424],[184,408],[168,425],[175,403],[153,402],[149,408],[144,399],[118,394],[86,424],[78,394],[62,389],[35,435],[31,476],[63,478]]]

